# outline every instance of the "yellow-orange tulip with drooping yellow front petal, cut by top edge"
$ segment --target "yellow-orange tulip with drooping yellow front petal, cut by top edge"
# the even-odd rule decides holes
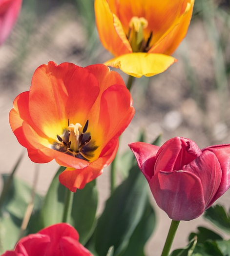
[[[134,77],[164,72],[185,37],[194,0],[95,0],[103,46],[115,58],[105,65]]]

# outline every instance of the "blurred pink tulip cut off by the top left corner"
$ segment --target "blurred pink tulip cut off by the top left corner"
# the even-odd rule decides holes
[[[21,10],[22,0],[0,0],[0,45],[13,28]]]

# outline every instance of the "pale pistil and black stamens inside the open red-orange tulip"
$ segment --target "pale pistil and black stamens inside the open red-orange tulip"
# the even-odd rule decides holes
[[[90,161],[98,147],[91,140],[90,133],[86,132],[87,128],[88,120],[83,129],[79,123],[69,124],[68,129],[63,130],[63,134],[57,134],[58,141],[53,143],[52,149]]]

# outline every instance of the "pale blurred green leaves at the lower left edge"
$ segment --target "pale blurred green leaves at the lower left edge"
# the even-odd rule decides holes
[[[8,184],[7,194],[4,197],[0,216],[0,253],[6,250],[12,250],[21,235],[21,223],[27,206],[32,200],[32,189],[21,179],[11,177],[11,183],[8,183],[8,175],[2,175],[4,184]],[[42,205],[42,197],[35,194],[34,207],[31,215],[31,222],[27,226],[26,233],[32,232],[37,226],[32,220],[38,216]],[[35,230],[38,231],[38,230]]]

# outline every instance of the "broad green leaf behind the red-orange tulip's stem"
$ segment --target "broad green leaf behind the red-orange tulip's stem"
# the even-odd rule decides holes
[[[60,167],[45,196],[41,212],[42,227],[62,222],[66,188],[59,182],[58,177],[64,169]],[[86,243],[94,230],[97,202],[95,180],[74,193],[70,224],[79,232],[82,244]]]

